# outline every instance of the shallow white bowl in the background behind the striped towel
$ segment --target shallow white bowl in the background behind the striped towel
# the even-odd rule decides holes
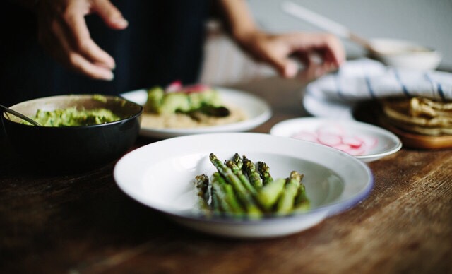
[[[415,42],[389,38],[374,38],[370,42],[371,46],[378,51],[375,55],[376,59],[388,66],[434,70],[441,63],[440,52]]]

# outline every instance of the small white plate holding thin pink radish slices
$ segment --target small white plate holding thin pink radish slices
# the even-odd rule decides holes
[[[364,162],[378,160],[402,148],[400,139],[390,131],[359,121],[295,118],[275,124],[270,134],[329,145]]]

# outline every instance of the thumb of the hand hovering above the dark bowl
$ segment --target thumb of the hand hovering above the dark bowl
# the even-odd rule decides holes
[[[92,11],[97,13],[102,20],[115,30],[124,30],[129,22],[122,16],[121,11],[109,0],[93,1]]]

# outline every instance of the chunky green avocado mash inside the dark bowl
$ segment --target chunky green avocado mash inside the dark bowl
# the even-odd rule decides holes
[[[69,107],[67,109],[55,109],[44,111],[38,109],[31,119],[42,126],[89,126],[93,124],[104,124],[121,119],[109,109],[82,109]],[[23,122],[23,124],[29,124]]]

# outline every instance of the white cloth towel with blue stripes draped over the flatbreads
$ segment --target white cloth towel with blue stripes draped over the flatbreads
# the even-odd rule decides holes
[[[452,73],[393,68],[364,58],[347,61],[337,72],[309,83],[307,92],[314,89],[339,102],[390,96],[452,100]]]

